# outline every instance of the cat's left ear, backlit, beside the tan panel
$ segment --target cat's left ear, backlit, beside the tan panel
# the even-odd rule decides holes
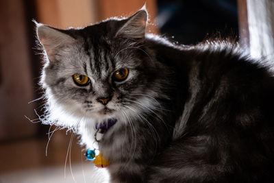
[[[72,45],[75,38],[47,25],[36,23],[36,34],[47,56],[52,58],[60,49]]]

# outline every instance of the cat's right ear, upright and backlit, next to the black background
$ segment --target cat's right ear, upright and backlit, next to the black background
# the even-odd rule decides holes
[[[116,33],[117,36],[143,40],[145,38],[145,28],[147,27],[147,10],[145,6],[136,14],[126,19],[123,26]]]

